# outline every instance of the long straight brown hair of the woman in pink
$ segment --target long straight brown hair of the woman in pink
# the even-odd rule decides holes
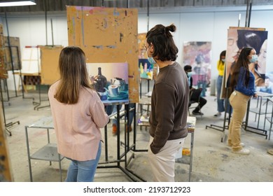
[[[80,87],[91,88],[85,62],[85,53],[79,47],[67,46],[59,55],[60,82],[55,99],[64,104],[76,104]]]

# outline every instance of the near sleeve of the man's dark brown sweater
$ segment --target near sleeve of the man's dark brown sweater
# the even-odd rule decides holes
[[[155,118],[158,125],[155,129],[155,137],[151,144],[151,151],[156,154],[165,146],[170,132],[174,129],[174,105],[176,92],[166,83],[158,83],[155,91],[157,104],[155,106]]]

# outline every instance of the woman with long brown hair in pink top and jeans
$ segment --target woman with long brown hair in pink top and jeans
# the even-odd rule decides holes
[[[93,181],[101,155],[103,128],[109,117],[96,90],[90,87],[85,53],[76,46],[59,55],[60,79],[48,97],[58,153],[71,160],[66,181]]]

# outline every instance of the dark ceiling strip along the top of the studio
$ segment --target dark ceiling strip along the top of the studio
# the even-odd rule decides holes
[[[273,0],[36,0],[36,6],[1,7],[0,13],[65,12],[67,6],[94,6],[109,8],[206,8],[225,6],[273,5]]]

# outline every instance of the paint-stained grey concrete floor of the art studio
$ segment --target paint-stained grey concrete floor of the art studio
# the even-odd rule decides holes
[[[22,93],[19,93],[20,95]],[[209,92],[207,93],[209,94]],[[50,116],[50,107],[46,92],[41,93],[41,102],[39,101],[38,93],[36,91],[25,93],[25,97],[33,97],[35,102],[40,102],[41,109],[34,109],[37,106],[32,99],[22,98],[22,96],[15,97],[14,92],[9,94],[10,98],[7,100],[7,95],[3,93],[4,112],[6,124],[15,123],[15,125],[8,127],[12,136],[7,136],[8,148],[11,161],[11,169],[14,181],[28,182],[29,180],[29,164],[27,160],[27,146],[25,139],[25,126],[31,125],[36,120],[45,116]],[[273,148],[273,139],[270,141],[264,136],[254,134],[252,132],[241,132],[241,140],[246,144],[246,147],[251,150],[250,155],[237,155],[230,152],[225,142],[221,142],[223,132],[207,128],[207,125],[218,125],[223,127],[223,115],[215,118],[216,113],[216,97],[207,95],[207,104],[202,109],[204,116],[201,118],[197,116],[197,125],[195,129],[195,144],[193,152],[193,172],[191,181],[205,181],[205,182],[221,182],[221,181],[255,181],[255,182],[272,182],[273,181],[273,155],[267,153],[267,149]],[[256,100],[251,102],[251,106],[255,106]],[[257,127],[255,122],[255,115],[249,114],[249,125]],[[261,116],[261,125],[263,125],[263,118]],[[20,121],[20,124],[16,123]],[[123,126],[123,121],[121,121]],[[267,123],[265,130],[268,130]],[[116,160],[117,152],[117,137],[111,134],[111,123],[109,123],[108,143],[109,143],[109,162]],[[227,131],[226,131],[227,132]],[[104,130],[102,130],[104,137]],[[132,141],[132,132],[130,132],[130,140]],[[272,136],[273,137],[273,136]],[[54,130],[50,131],[51,142],[55,141]],[[149,134],[143,127],[137,127],[137,149],[146,149],[148,144]],[[29,130],[30,151],[34,152],[46,144],[46,130],[31,129]],[[121,131],[120,141],[124,141],[124,131]],[[190,134],[186,138],[186,147],[190,147]],[[105,146],[103,145],[102,156],[100,162],[105,160]],[[124,146],[121,146],[122,153]],[[146,181],[152,181],[151,165],[148,163],[146,152],[132,152],[127,154],[127,158],[134,155],[134,158],[127,166],[134,174],[137,174]],[[49,162],[41,160],[31,160],[33,180],[38,182],[59,181],[59,166],[57,162]],[[69,160],[62,160],[63,180],[66,176],[66,171],[69,165]],[[100,165],[104,168],[97,169],[97,174],[94,181],[97,182],[123,182],[132,181],[123,172],[122,169],[116,167],[117,163],[109,163]],[[120,166],[124,168],[124,162],[120,162]],[[113,167],[113,168],[107,168]],[[116,167],[116,168],[115,168]],[[176,163],[176,181],[188,181],[189,166]],[[132,175],[131,175],[132,176]],[[132,176],[134,178],[134,176]]]

